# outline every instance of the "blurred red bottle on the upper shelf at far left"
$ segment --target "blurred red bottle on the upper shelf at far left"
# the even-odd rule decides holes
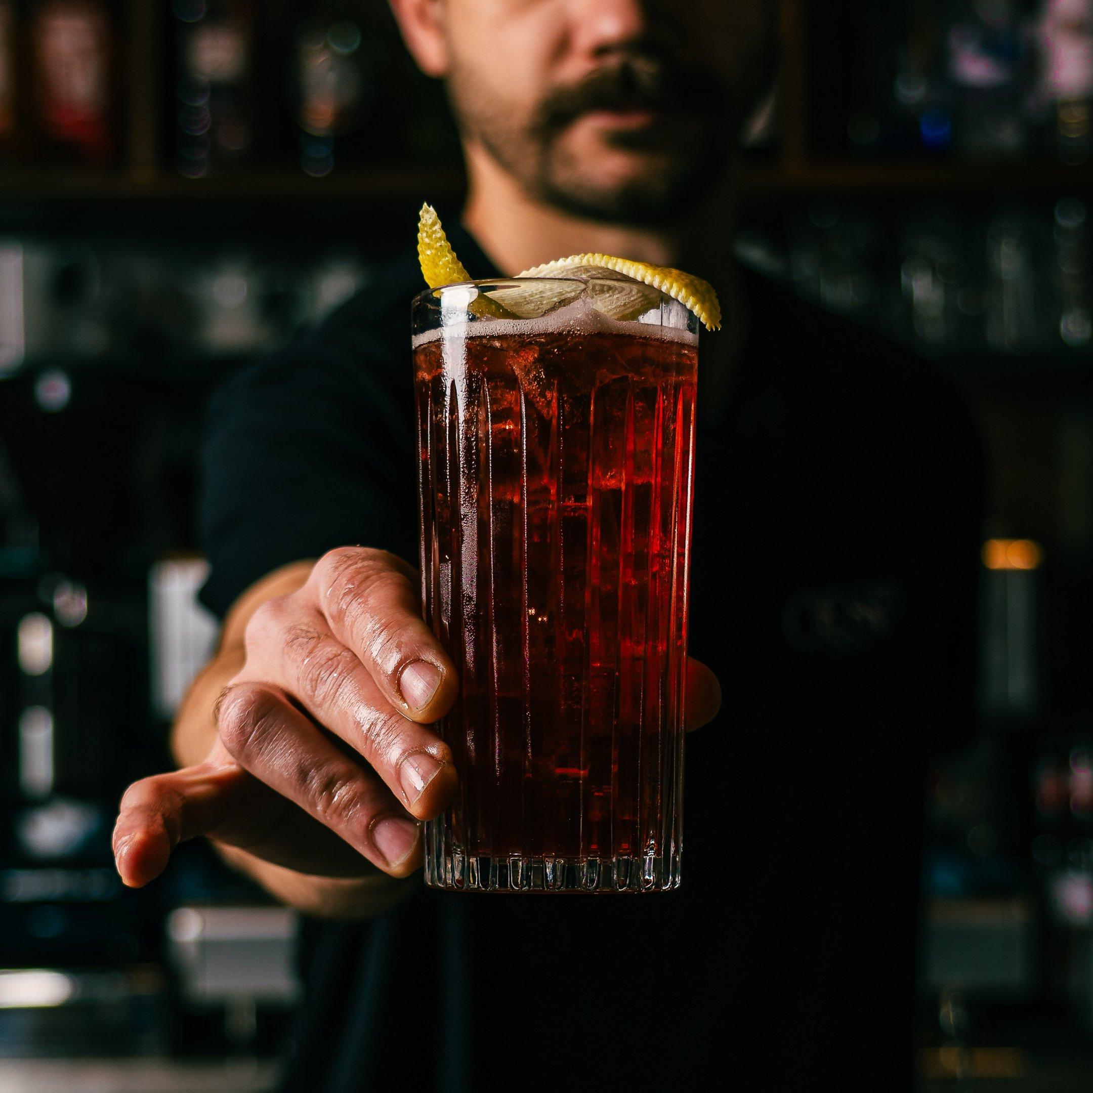
[[[37,0],[28,33],[36,158],[110,164],[117,153],[117,21],[105,0]]]

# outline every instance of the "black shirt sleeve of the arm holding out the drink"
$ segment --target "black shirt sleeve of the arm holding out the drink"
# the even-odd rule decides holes
[[[218,615],[266,574],[336,546],[416,557],[413,386],[391,341],[336,316],[213,397],[199,515],[201,600]]]

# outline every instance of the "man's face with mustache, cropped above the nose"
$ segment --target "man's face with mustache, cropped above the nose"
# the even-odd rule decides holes
[[[693,203],[771,79],[773,0],[391,2],[465,141],[598,219]]]

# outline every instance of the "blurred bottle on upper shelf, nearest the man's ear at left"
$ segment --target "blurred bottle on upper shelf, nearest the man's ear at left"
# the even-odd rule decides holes
[[[297,11],[287,57],[290,107],[308,175],[374,157],[365,124],[379,95],[385,36],[373,19],[352,0],[319,0]]]

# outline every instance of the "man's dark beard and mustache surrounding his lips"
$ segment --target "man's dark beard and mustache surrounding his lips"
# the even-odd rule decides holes
[[[663,223],[692,209],[724,177],[751,96],[709,73],[660,56],[634,54],[546,95],[528,119],[507,110],[456,64],[448,96],[461,132],[531,197],[567,213],[622,224]],[[608,131],[610,146],[631,152],[624,180],[604,180],[590,157],[566,144],[573,124],[592,110],[655,110],[637,129]],[[595,158],[595,157],[592,157]]]

